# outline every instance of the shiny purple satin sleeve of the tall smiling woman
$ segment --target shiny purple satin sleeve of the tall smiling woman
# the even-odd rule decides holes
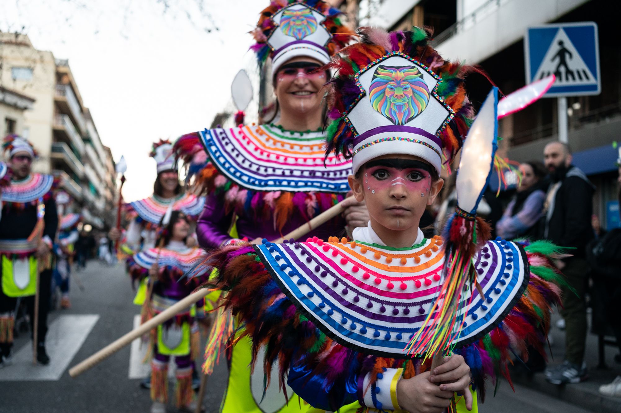
[[[215,194],[207,195],[205,207],[196,223],[196,236],[201,247],[219,248],[229,241],[229,228],[232,214],[224,213],[224,200]]]

